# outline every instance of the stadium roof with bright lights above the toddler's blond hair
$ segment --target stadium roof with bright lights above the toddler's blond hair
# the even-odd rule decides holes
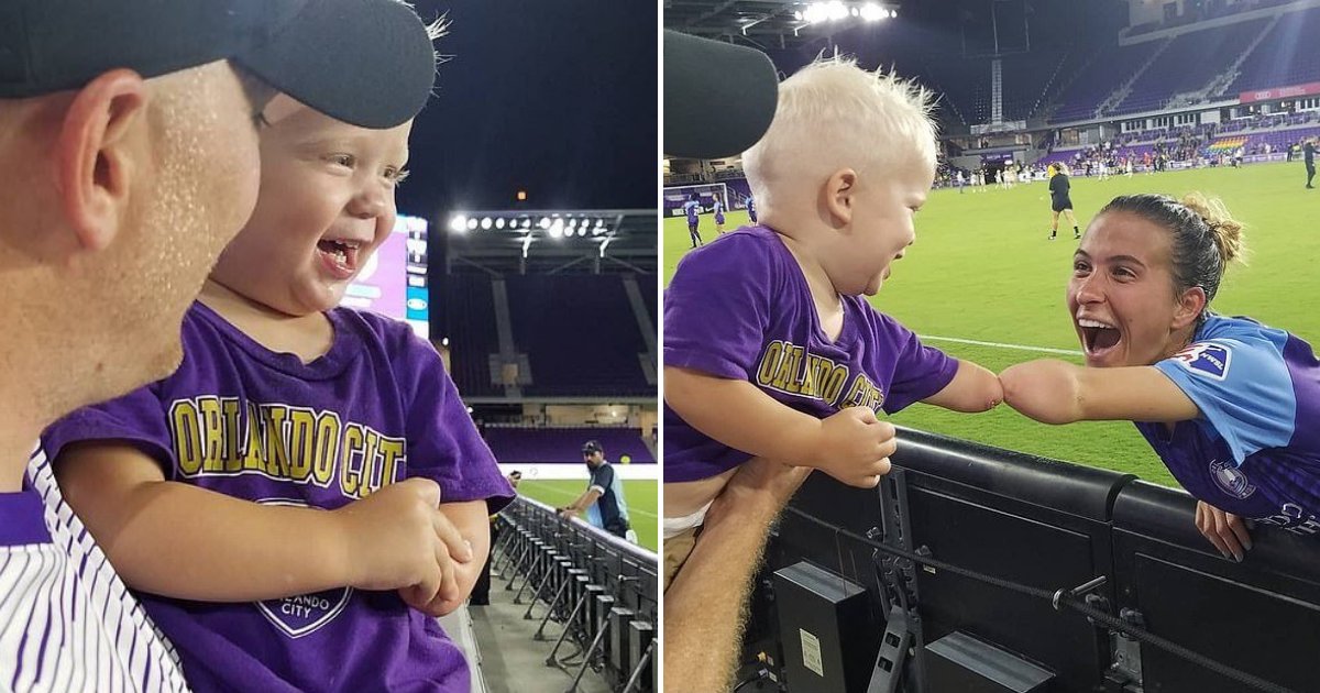
[[[813,5],[817,9],[813,9]],[[837,0],[832,3],[789,0],[665,0],[664,24],[693,36],[746,44],[762,49],[785,49],[825,40],[866,21],[884,21],[900,3]],[[834,20],[812,21],[814,12]],[[883,17],[882,17],[883,13]],[[865,17],[865,18],[863,18]]]

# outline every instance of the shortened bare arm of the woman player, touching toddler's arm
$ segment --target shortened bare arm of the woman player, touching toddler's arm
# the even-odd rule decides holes
[[[1196,404],[1154,366],[1086,368],[1056,359],[1019,363],[999,374],[1003,401],[1044,424],[1073,421],[1175,422],[1196,418]]]

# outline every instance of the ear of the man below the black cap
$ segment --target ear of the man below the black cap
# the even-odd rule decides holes
[[[55,143],[59,202],[78,242],[102,249],[124,220],[135,176],[133,125],[147,117],[147,83],[131,70],[102,74],[74,96]]]

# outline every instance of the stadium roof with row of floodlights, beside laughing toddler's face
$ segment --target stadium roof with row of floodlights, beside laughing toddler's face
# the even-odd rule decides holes
[[[440,220],[445,272],[655,273],[655,210],[451,211]]]

